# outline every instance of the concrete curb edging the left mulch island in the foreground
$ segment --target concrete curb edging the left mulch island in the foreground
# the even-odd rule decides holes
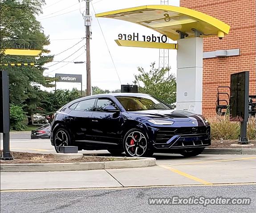
[[[107,157],[107,158],[116,158],[116,157]],[[148,166],[156,165],[155,158],[135,158],[135,159],[126,158],[126,159],[128,160],[111,161],[111,162],[1,164],[0,171],[1,172],[83,171],[83,170],[139,168],[139,167],[148,167]]]

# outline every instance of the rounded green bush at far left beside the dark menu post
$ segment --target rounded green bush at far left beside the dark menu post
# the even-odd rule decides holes
[[[21,106],[10,104],[10,128],[12,130],[24,130],[26,125],[24,120],[27,118],[26,113]]]

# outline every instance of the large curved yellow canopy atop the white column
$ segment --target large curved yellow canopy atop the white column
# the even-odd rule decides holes
[[[230,26],[204,13],[183,7],[168,5],[146,5],[110,12],[98,13],[96,17],[112,18],[140,24],[172,40],[179,39],[180,31],[194,37],[192,29],[203,33],[203,37],[215,36],[219,32],[228,34]]]

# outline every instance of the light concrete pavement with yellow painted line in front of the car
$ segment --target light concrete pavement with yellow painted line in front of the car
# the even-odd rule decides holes
[[[164,156],[163,156],[164,157]],[[1,190],[72,189],[151,185],[250,183],[256,155],[201,155],[158,159],[158,166],[133,169],[1,173]]]

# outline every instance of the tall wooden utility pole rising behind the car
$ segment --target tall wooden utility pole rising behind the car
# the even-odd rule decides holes
[[[90,59],[90,26],[91,26],[91,16],[90,16],[90,0],[86,1],[86,10],[85,10],[85,31],[86,31],[86,95],[92,95],[91,92],[91,59]]]

